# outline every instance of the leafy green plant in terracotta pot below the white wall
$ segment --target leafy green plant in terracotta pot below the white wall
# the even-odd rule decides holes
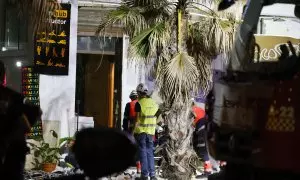
[[[54,138],[58,138],[55,131],[51,130],[50,132]],[[38,144],[29,143],[29,145],[34,152],[33,165],[35,169],[42,169],[45,172],[54,171],[60,158],[58,143],[51,147],[44,139],[40,139]]]

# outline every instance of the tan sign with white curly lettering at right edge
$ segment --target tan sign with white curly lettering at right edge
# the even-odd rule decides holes
[[[277,61],[281,54],[280,45],[287,45],[288,41],[292,42],[296,53],[299,53],[300,39],[284,36],[256,35],[255,40],[260,47],[259,59],[257,59],[258,49],[256,48],[255,61]]]

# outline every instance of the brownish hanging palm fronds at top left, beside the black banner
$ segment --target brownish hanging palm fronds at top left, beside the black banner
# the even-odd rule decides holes
[[[49,12],[59,9],[57,0],[8,0],[11,4],[17,6],[20,14],[19,16],[28,17],[29,24],[33,28],[33,32],[38,30],[47,30],[49,23]]]

